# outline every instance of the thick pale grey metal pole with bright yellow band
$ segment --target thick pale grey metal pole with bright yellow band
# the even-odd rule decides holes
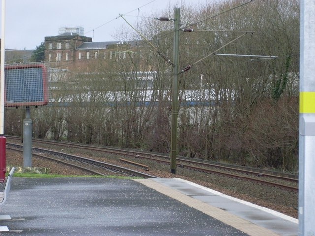
[[[315,1],[300,6],[299,236],[315,236]]]

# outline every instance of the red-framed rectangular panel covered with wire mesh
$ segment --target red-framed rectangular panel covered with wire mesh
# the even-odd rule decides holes
[[[44,64],[5,66],[5,106],[41,106],[48,103],[47,68]]]

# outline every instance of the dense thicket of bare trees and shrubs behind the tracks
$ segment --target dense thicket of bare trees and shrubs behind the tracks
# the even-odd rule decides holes
[[[246,2],[181,8],[182,27],[195,31],[180,34],[180,67],[193,67],[179,76],[178,151],[295,170],[299,2]],[[150,16],[173,14],[169,6]],[[50,131],[54,139],[169,152],[173,68],[165,59],[172,61],[173,22],[139,17],[136,29],[154,46],[132,30],[118,30],[117,39],[128,43],[112,46],[110,57],[91,59],[52,84],[56,104],[32,111],[37,136]],[[221,54],[278,58],[211,54],[219,48]],[[6,132],[20,133],[17,113],[8,110]]]

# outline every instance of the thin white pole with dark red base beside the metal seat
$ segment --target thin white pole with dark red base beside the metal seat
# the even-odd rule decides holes
[[[5,0],[2,0],[1,19],[1,82],[0,82],[0,181],[5,180],[6,138],[4,137],[4,77],[5,77]]]

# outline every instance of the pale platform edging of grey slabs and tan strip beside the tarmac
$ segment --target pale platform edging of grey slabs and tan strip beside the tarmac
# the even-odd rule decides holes
[[[149,182],[148,180],[140,181],[144,182],[144,184]],[[164,194],[178,199],[249,235],[298,235],[298,220],[279,212],[227,196],[182,179],[152,179],[152,181],[162,184],[164,188],[168,188],[164,189]],[[152,183],[150,184],[149,182],[147,185],[150,186]],[[157,186],[155,189],[159,191],[163,187]],[[170,193],[170,189],[173,193]]]

